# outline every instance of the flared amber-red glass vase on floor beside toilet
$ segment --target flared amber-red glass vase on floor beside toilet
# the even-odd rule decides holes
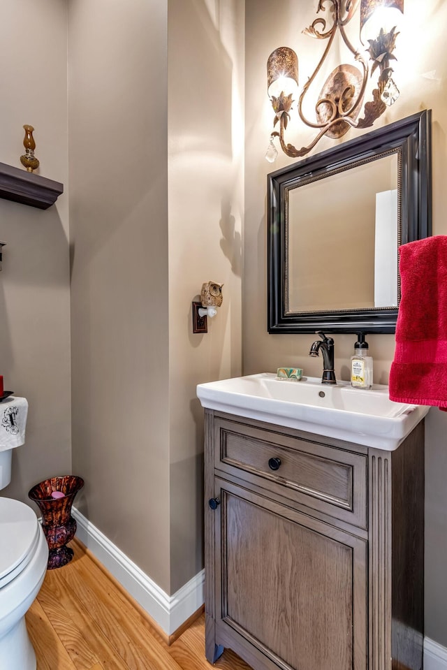
[[[45,479],[28,493],[42,512],[42,528],[50,550],[49,570],[66,565],[73,558],[73,549],[66,544],[75,537],[76,520],[71,516],[71,506],[82,486],[84,480],[70,474]]]

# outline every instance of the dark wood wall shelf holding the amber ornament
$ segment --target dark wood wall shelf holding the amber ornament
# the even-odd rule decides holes
[[[0,198],[46,210],[64,192],[64,184],[0,163]]]

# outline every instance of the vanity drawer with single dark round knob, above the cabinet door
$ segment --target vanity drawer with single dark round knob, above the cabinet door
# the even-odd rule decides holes
[[[367,527],[367,456],[216,418],[214,467],[360,528]]]

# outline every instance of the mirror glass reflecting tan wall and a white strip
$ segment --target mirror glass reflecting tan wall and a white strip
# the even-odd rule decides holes
[[[286,312],[397,306],[400,152],[286,187]]]

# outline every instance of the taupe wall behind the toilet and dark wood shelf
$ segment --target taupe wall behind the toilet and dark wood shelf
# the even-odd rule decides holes
[[[26,442],[0,495],[24,502],[38,481],[71,472],[66,20],[59,0],[1,8],[0,161],[22,168],[22,126],[31,124],[37,174],[64,183],[49,210],[0,199],[0,374],[29,402]]]

